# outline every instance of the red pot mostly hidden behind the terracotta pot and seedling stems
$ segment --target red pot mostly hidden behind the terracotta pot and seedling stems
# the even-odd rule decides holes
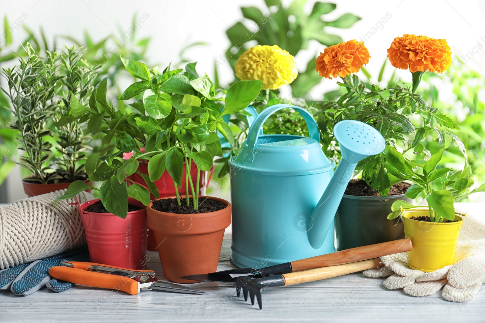
[[[143,160],[140,160],[140,164],[138,166],[138,171],[141,172],[142,174],[148,175],[148,163],[144,162]],[[209,173],[209,178],[207,179],[206,182],[206,172],[201,171],[200,172],[200,180],[199,180],[199,195],[205,194],[205,189],[209,185],[210,178],[212,177],[212,173],[214,171],[214,168],[211,169]],[[193,162],[191,165],[190,169],[190,175],[192,178],[192,182],[195,183],[197,182],[197,166]],[[145,180],[143,179],[142,176],[138,174],[133,174],[130,176],[130,178],[140,184],[146,185]],[[180,193],[185,192],[185,163],[183,165],[183,173],[182,173],[182,178],[184,179],[182,181],[182,187],[179,189]],[[155,184],[158,188],[158,191],[160,193],[161,198],[166,198],[169,196],[175,196],[175,187],[174,187],[174,181],[172,177],[168,174],[168,172],[165,170],[162,174],[162,177],[160,177],[158,180],[156,180],[153,184]],[[150,200],[154,200],[155,197],[150,194]],[[148,231],[148,250],[157,250],[157,244],[155,243],[155,236],[153,235],[153,231],[149,230]]]

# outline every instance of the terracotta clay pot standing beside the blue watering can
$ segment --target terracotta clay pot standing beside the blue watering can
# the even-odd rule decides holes
[[[199,197],[202,198],[206,196]],[[148,227],[155,233],[163,274],[168,280],[197,283],[180,277],[217,270],[224,231],[231,223],[232,205],[223,199],[211,199],[224,203],[226,208],[208,213],[174,214],[156,211],[152,203],[148,204]]]

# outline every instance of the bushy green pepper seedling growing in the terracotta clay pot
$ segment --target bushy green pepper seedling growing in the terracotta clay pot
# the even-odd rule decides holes
[[[207,75],[197,74],[196,63],[187,64],[185,70],[170,70],[169,65],[160,73],[158,68],[148,69],[142,62],[123,58],[122,62],[126,70],[140,80],[131,84],[120,99],[128,100],[143,93],[142,100],[130,104],[139,112],[130,113],[127,121],[143,132],[145,153],[134,150],[131,158],[149,159],[148,174],[152,182],[166,169],[174,181],[179,205],[178,187],[185,180],[187,205],[192,195],[193,207],[197,210],[200,171],[210,170],[214,156],[222,156],[217,132],[234,143],[233,133],[222,117],[246,108],[259,95],[262,82],[240,81],[227,91],[216,91]],[[123,135],[123,139],[133,143],[128,134]],[[125,152],[131,147],[126,145]],[[197,165],[196,183],[190,173],[192,162]]]

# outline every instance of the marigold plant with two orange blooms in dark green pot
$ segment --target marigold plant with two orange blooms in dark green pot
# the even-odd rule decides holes
[[[434,42],[436,47],[443,49],[439,51],[440,55],[432,52],[426,54],[429,57],[437,55],[436,65],[433,67],[429,62],[422,61],[424,54],[416,58],[415,62],[411,62],[412,59],[404,61],[406,55],[413,57],[409,53],[421,48],[418,43],[416,48],[399,46],[412,36],[414,35],[404,35],[394,40],[388,50],[391,63],[403,69],[410,66],[411,72],[414,72],[413,80],[416,73],[424,73],[415,72],[416,69],[439,73],[446,70],[450,64],[451,52],[444,40],[427,37],[419,39],[421,43],[428,42],[430,45]],[[457,141],[459,146],[463,145],[449,131],[459,127],[436,108],[430,107],[416,93],[418,81],[413,81],[412,88],[403,84],[381,89],[377,85],[366,86],[353,75],[352,73],[369,62],[369,58],[369,52],[362,42],[349,41],[325,48],[316,62],[316,70],[322,77],[340,77],[342,81],[337,84],[346,90],[345,94],[337,96],[335,100],[320,104],[322,110],[317,122],[322,134],[323,150],[327,152],[327,156],[339,159],[339,148],[336,147],[332,131],[333,126],[344,119],[371,124],[386,141],[383,143],[386,145],[385,152],[361,161],[356,167],[360,178],[352,180],[347,186],[335,217],[339,250],[404,237],[402,223],[397,220],[395,223],[387,221],[386,215],[395,200],[411,201],[405,197],[410,184],[404,183],[403,179],[388,171],[385,154],[388,148],[400,147],[407,154],[428,155],[429,152],[420,142],[430,135],[434,135],[440,144],[446,135]]]

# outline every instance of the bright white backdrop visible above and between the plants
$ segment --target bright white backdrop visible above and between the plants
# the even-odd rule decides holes
[[[307,3],[311,11],[314,0]],[[326,29],[335,33],[344,41],[363,37],[387,13],[392,15],[370,40],[366,41],[371,54],[367,66],[372,76],[378,74],[387,55],[392,40],[404,33],[426,35],[433,38],[445,38],[452,48],[453,55],[469,54],[465,58],[470,67],[484,72],[485,57],[485,1],[474,0],[335,0],[337,9],[325,20],[334,20],[345,13],[353,13],[362,18],[350,29]],[[291,0],[284,0],[288,6]],[[263,0],[151,0],[151,1],[113,1],[113,0],[0,0],[0,15],[7,15],[11,23],[22,14],[28,15],[23,25],[33,31],[43,27],[48,39],[55,35],[71,35],[82,38],[88,31],[99,40],[108,34],[119,35],[127,31],[133,15],[149,17],[142,24],[140,36],[151,36],[148,50],[150,63],[166,65],[178,61],[178,53],[184,46],[193,42],[207,42],[207,46],[198,46],[186,53],[186,57],[197,61],[198,72],[206,71],[213,77],[213,63],[223,55],[229,46],[226,30],[237,21],[243,21],[249,27],[250,22],[242,18],[241,6],[256,6],[266,12]],[[3,30],[3,28],[1,28]],[[121,32],[120,32],[121,31]],[[14,31],[14,40],[20,42],[25,33],[22,29]],[[483,39],[481,38],[483,37]],[[59,41],[58,44],[61,44]],[[16,44],[18,46],[18,43]],[[312,42],[307,50],[301,51],[296,59],[303,71],[310,57],[323,51],[324,46]],[[480,48],[480,49],[478,49]],[[4,53],[2,53],[4,54]],[[388,68],[388,73],[391,68]],[[406,81],[411,79],[408,71],[398,70],[398,75]],[[233,79],[232,70],[226,63],[220,67],[221,84]],[[446,86],[446,85],[444,85]],[[333,89],[335,81],[325,80],[313,91],[314,98]],[[288,93],[288,89],[283,93]],[[444,99],[444,98],[440,98]],[[18,171],[12,174],[9,183],[19,180]],[[12,183],[13,184],[13,183]],[[10,199],[23,196],[20,185],[10,186]]]

